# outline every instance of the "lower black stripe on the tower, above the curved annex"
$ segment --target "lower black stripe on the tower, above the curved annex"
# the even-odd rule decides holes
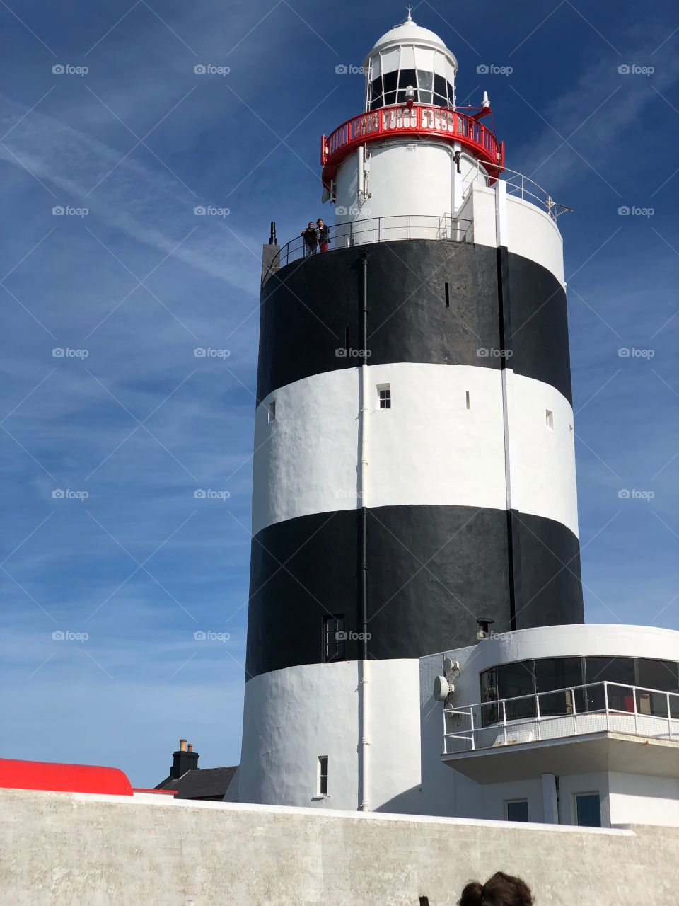
[[[323,616],[359,633],[360,510],[300,516],[253,538],[248,678],[322,660]],[[517,629],[583,622],[579,541],[565,526],[516,514],[522,554]],[[475,618],[511,629],[503,510],[467,506],[368,509],[371,658],[417,658],[474,642]],[[349,638],[344,657],[358,660]]]

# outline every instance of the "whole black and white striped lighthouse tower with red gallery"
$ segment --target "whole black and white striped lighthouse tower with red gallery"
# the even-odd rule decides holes
[[[583,620],[566,294],[453,53],[408,15],[364,65],[330,250],[264,276],[239,798],[415,812],[417,659]]]

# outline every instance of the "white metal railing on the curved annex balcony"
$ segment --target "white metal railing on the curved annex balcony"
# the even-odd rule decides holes
[[[679,693],[598,682],[444,708],[444,754],[612,731],[679,742]]]

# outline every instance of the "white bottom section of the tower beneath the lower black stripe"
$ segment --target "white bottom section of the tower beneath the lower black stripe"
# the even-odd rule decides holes
[[[368,666],[371,810],[420,810],[418,661]],[[245,684],[239,800],[319,809],[359,807],[359,663],[273,670]],[[319,797],[318,757],[328,756]]]

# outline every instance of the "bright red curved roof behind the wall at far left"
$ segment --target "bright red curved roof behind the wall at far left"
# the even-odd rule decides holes
[[[117,767],[58,765],[12,758],[0,758],[0,788],[132,795],[127,776]]]

